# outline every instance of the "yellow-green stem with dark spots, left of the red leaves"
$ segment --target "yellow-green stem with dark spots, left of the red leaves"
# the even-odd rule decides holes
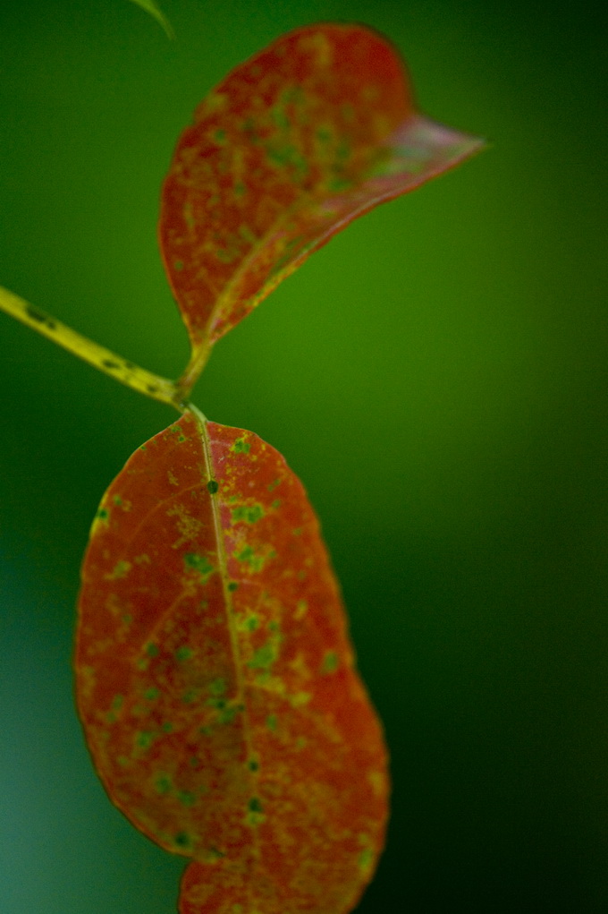
[[[128,388],[137,390],[138,393],[146,397],[160,400],[161,403],[167,403],[173,406],[179,412],[183,411],[183,397],[180,389],[166,377],[159,377],[141,368],[133,365],[127,359],[116,356],[110,349],[93,343],[86,336],[77,334],[66,324],[61,324],[54,317],[35,308],[34,305],[26,302],[14,292],[9,292],[0,286],[0,310],[5,311],[17,321],[26,324],[37,333],[47,336],[54,343],[63,346],[74,356],[89,362],[89,365],[99,368],[104,374],[120,381],[121,384]]]

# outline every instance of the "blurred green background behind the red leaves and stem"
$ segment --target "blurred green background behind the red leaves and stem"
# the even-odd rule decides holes
[[[599,6],[124,0],[0,12],[0,282],[175,377],[155,223],[205,92],[359,20],[491,149],[379,207],[217,346],[195,401],[316,506],[393,757],[365,914],[608,910],[605,21]],[[170,914],[183,868],[97,781],[75,716],[100,495],[174,413],[0,314],[0,909]],[[288,912],[286,912],[288,914]]]

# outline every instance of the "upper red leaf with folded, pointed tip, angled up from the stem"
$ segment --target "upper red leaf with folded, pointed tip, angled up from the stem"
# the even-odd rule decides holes
[[[482,145],[416,112],[396,50],[362,26],[300,28],[234,69],[162,189],[162,256],[193,358],[351,219]]]

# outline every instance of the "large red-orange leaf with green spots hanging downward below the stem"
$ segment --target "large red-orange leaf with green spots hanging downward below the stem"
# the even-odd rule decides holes
[[[183,914],[351,910],[383,845],[386,752],[278,452],[188,411],[133,454],[91,531],[76,669],[111,800],[194,858]]]

